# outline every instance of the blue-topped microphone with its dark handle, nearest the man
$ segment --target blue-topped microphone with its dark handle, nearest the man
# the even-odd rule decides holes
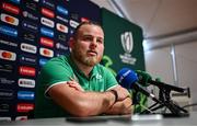
[[[135,89],[136,91],[140,91],[144,95],[150,96],[153,101],[158,103],[162,103],[160,100],[157,99],[154,94],[150,93],[148,90],[146,90],[137,82],[138,81],[137,73],[131,69],[123,68],[121,70],[119,70],[116,76],[116,80],[123,88]]]

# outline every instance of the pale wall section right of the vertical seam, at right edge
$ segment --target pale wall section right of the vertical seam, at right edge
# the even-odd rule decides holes
[[[176,60],[179,85],[190,88],[192,101],[197,103],[197,41],[177,45]],[[197,107],[194,107],[197,111]]]

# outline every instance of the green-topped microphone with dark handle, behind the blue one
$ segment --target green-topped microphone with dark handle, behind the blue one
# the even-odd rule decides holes
[[[148,87],[149,84],[153,84],[157,85],[158,88],[162,88],[162,89],[166,89],[166,90],[173,90],[176,92],[184,92],[185,89],[183,88],[178,88],[172,84],[166,84],[164,82],[161,81],[153,81],[151,76],[146,72],[146,71],[141,71],[141,70],[136,70],[138,78],[139,78],[139,82],[146,83],[144,87]]]

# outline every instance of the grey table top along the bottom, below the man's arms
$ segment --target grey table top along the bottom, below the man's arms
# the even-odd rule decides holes
[[[93,117],[58,117],[58,118],[37,118],[28,121],[0,122],[1,126],[194,126],[197,125],[197,112],[192,112],[185,117],[163,117],[162,115],[108,115]]]

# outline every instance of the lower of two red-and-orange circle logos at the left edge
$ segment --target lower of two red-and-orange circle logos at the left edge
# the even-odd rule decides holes
[[[0,49],[0,59],[14,61],[16,59],[16,54],[9,50]]]

